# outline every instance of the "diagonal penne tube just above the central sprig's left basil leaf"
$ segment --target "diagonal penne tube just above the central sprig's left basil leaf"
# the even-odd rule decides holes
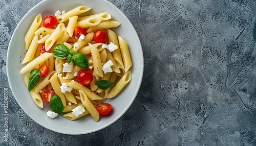
[[[50,50],[63,31],[65,31],[65,25],[63,23],[59,23],[51,36],[45,42],[46,51]]]

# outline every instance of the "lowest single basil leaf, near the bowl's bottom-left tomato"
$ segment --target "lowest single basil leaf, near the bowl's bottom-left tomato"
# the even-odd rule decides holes
[[[61,99],[57,94],[52,96],[52,98],[50,99],[49,105],[52,111],[58,114],[60,114],[64,110],[64,106],[61,102]]]

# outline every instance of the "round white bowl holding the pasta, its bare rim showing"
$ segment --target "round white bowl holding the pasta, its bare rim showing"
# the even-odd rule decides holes
[[[21,63],[26,52],[24,37],[34,17],[40,13],[44,18],[48,15],[54,15],[57,10],[67,11],[80,5],[91,7],[90,13],[92,14],[109,12],[113,20],[120,22],[120,26],[113,30],[128,43],[133,61],[131,82],[116,98],[105,101],[112,104],[113,111],[108,116],[100,116],[98,122],[95,122],[91,115],[86,115],[73,121],[64,118],[63,114],[54,119],[48,117],[46,113],[50,109],[49,105],[44,103],[44,109],[37,107],[24,83],[25,74],[19,73],[20,69],[25,66]],[[142,47],[132,23],[117,7],[105,0],[73,0],[72,3],[69,0],[45,0],[40,2],[18,23],[12,35],[7,54],[8,80],[19,106],[39,125],[63,134],[95,132],[111,125],[120,118],[136,98],[142,81],[143,67]]]

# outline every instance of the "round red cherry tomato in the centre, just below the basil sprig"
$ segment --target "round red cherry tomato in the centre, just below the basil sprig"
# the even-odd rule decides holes
[[[82,69],[77,73],[78,82],[82,85],[90,85],[93,81],[93,74],[87,69]]]

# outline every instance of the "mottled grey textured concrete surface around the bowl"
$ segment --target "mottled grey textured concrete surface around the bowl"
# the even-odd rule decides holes
[[[113,125],[65,135],[28,117],[7,81],[11,35],[40,1],[0,0],[1,145],[256,145],[256,1],[109,1],[140,37],[142,85]],[[4,91],[9,96],[8,142]]]

